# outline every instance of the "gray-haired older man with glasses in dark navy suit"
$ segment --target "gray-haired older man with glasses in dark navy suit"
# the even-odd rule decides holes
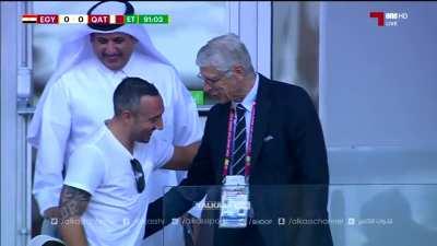
[[[245,45],[234,34],[211,39],[199,50],[197,65],[204,91],[218,104],[209,113],[201,147],[180,186],[206,187],[222,185],[228,176],[243,177],[251,204],[247,221],[273,222],[213,226],[212,244],[331,246],[327,152],[308,94],[256,73]],[[150,204],[147,220],[164,215],[169,223],[206,191],[174,188]],[[210,194],[215,196],[208,200],[220,200],[220,189]],[[279,219],[285,219],[286,225],[277,224]],[[146,225],[145,236],[160,226]]]

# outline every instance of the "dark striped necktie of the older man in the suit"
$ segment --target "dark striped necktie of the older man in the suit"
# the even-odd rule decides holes
[[[232,175],[241,175],[245,171],[246,164],[246,108],[241,105],[237,105],[237,120],[234,133],[234,150],[233,150],[233,162],[232,162]]]

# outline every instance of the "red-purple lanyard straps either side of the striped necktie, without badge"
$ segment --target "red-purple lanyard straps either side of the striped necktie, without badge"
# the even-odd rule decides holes
[[[255,122],[255,106],[257,102],[253,102],[252,104],[252,110],[251,110],[251,117],[250,117],[250,127],[249,127],[249,139],[248,139],[248,144],[246,148],[246,162],[245,162],[245,176],[248,177],[250,175],[250,164],[251,164],[251,156],[252,156],[252,136],[253,136],[253,122]],[[226,176],[228,174],[229,169],[229,161],[232,159],[231,156],[231,150],[232,150],[232,143],[233,143],[233,138],[234,138],[234,118],[235,118],[235,109],[232,108],[229,110],[229,117],[227,120],[227,139],[226,139],[226,156],[225,156],[225,163],[223,166],[223,176]]]

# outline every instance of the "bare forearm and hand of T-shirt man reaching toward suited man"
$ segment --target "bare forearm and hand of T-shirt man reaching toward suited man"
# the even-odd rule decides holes
[[[177,171],[189,169],[192,160],[198,153],[199,147],[200,142],[193,142],[186,147],[175,147],[175,151],[173,152],[170,161],[168,161],[163,168]]]

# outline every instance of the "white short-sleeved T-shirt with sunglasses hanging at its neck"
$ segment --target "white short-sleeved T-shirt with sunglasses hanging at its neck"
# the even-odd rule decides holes
[[[81,218],[90,246],[140,245],[149,196],[146,189],[138,192],[130,160],[140,161],[149,186],[152,171],[173,152],[170,143],[152,138],[149,143],[135,143],[132,156],[105,125],[73,151],[63,184],[91,194]]]

